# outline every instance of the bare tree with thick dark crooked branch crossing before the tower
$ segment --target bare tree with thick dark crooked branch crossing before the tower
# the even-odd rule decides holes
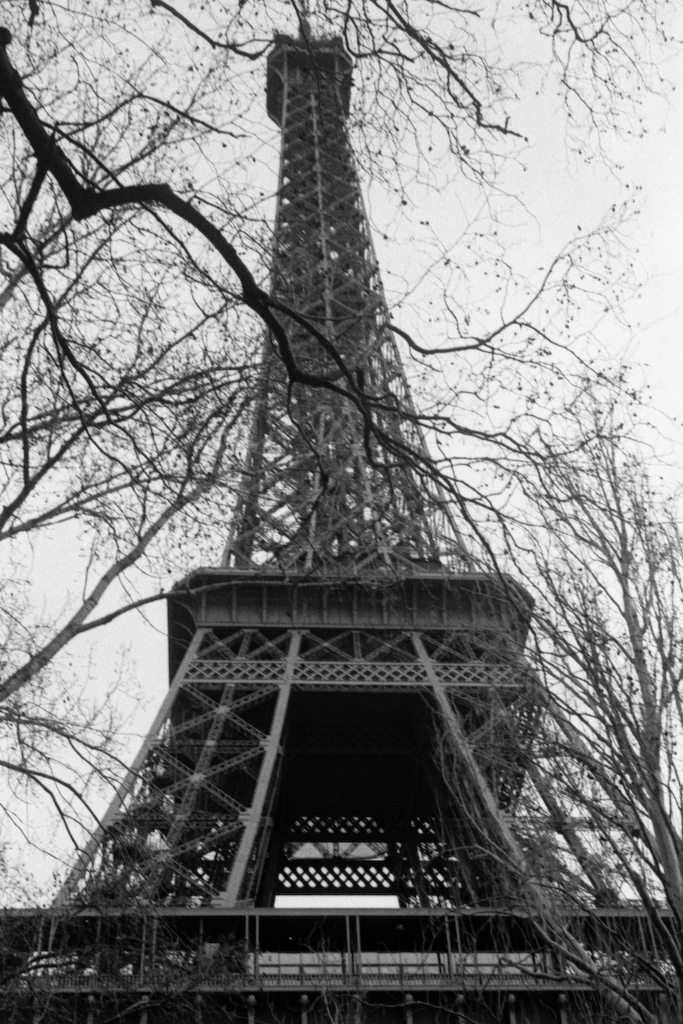
[[[664,32],[656,7],[601,0],[578,19],[564,4],[536,0],[529,13],[572,125],[584,118],[590,134],[631,117],[629,94],[646,84],[645,44]],[[11,705],[11,737],[30,719],[33,728],[48,727],[49,716],[29,711],[23,693],[43,685],[71,640],[119,613],[96,610],[115,581],[172,550],[174,528],[189,538],[178,563],[210,549],[208,524],[224,518],[240,468],[253,340],[264,330],[290,382],[341,395],[382,440],[383,396],[334,351],[332,376],[300,366],[285,315],[321,350],[334,346],[265,285],[268,233],[248,170],[261,131],[260,122],[254,128],[258,61],[273,31],[300,29],[305,44],[306,17],[313,31],[340,34],[356,60],[362,87],[352,130],[369,173],[394,187],[405,162],[427,175],[429,135],[459,171],[482,185],[494,181],[500,154],[519,142],[519,69],[505,54],[490,56],[497,25],[456,5],[335,0],[306,14],[285,0],[237,11],[215,2],[188,17],[162,0],[150,9],[134,0],[116,9],[32,0],[8,16],[0,38],[7,325],[0,539],[17,579],[33,539],[52,527],[76,523],[87,548],[83,596],[61,618],[44,629],[7,620],[0,698]],[[595,247],[609,238],[606,229],[578,240],[493,325],[474,317],[475,329],[450,311],[452,343],[438,350],[392,325],[429,367],[472,358],[462,388],[469,404],[454,413],[436,402],[424,416],[403,415],[444,442],[478,445],[468,463],[482,452],[484,464],[493,452],[532,455],[531,435],[518,428],[546,402],[539,381],[590,376],[581,359],[564,361],[567,332],[553,323],[558,308],[566,322],[574,289],[585,294],[586,273],[597,272]],[[496,415],[495,388],[509,399]],[[445,486],[475,532],[498,514],[486,487],[457,460],[454,479],[447,460],[437,466],[420,452],[400,455]],[[82,737],[87,724],[86,716]],[[55,735],[63,729],[57,721]],[[25,744],[23,756],[41,746]],[[37,781],[46,769],[33,755],[6,762]]]

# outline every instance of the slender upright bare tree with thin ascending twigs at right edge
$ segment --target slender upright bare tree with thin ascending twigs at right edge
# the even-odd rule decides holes
[[[552,694],[548,785],[583,820],[602,878],[646,913],[632,964],[683,1012],[683,535],[666,468],[627,436],[629,417],[587,396],[593,439],[540,463],[528,497],[540,666]],[[578,438],[579,439],[579,438]],[[652,472],[652,467],[654,472]],[[541,537],[544,541],[541,541]],[[595,878],[578,899],[595,903]],[[581,895],[580,895],[581,894]]]

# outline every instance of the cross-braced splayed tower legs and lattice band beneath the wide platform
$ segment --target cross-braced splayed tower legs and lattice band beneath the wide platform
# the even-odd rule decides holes
[[[228,906],[293,892],[488,899],[494,865],[472,863],[468,813],[438,758],[447,723],[434,690],[510,810],[527,680],[520,665],[467,660],[459,634],[417,636],[199,631],[63,895]],[[506,750],[503,723],[514,734]]]

